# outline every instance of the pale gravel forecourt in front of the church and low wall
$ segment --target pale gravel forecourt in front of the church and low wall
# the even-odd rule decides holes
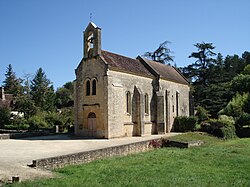
[[[166,136],[176,135],[174,133]],[[42,136],[25,139],[0,140],[0,181],[19,176],[21,180],[53,177],[48,170],[34,169],[27,165],[34,159],[95,150],[150,140],[162,135],[127,137],[119,139],[75,139],[68,135]]]

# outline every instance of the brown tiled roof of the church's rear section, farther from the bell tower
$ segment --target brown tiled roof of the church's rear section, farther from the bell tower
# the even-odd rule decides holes
[[[189,84],[189,82],[184,78],[184,76],[181,75],[181,73],[178,72],[178,70],[176,70],[174,67],[166,64],[161,64],[152,60],[148,60],[146,58],[142,59],[163,79],[181,84]]]

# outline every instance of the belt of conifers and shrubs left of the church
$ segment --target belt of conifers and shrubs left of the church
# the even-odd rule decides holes
[[[12,108],[0,108],[0,128],[38,130],[59,125],[63,130],[73,125],[73,82],[65,83],[55,93],[42,68],[37,70],[31,82],[30,74],[25,74],[23,82],[16,78],[11,65],[5,76],[5,90],[14,95],[15,102]],[[60,108],[60,112],[56,108]],[[23,113],[24,118],[11,117],[10,110]]]

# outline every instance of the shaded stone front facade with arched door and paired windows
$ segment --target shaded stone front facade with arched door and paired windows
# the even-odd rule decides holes
[[[93,71],[94,70],[94,71]],[[107,82],[105,64],[99,58],[83,59],[76,70],[75,81],[75,134],[108,138]],[[86,82],[91,82],[90,95],[86,95]],[[92,81],[96,80],[96,94],[92,94]],[[88,115],[96,115],[96,126],[89,130]]]

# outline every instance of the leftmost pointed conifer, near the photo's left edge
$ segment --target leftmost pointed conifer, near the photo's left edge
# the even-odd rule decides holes
[[[12,69],[11,64],[7,67],[5,74],[5,80],[3,81],[3,87],[5,92],[13,95],[20,95],[22,93],[22,80],[16,77],[15,72]]]

